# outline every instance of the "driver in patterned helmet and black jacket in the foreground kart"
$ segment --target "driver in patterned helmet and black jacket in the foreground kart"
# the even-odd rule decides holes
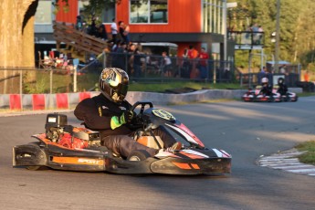
[[[166,149],[171,152],[179,150],[181,143],[162,126],[153,130],[163,140],[164,149],[156,150],[136,142],[131,136],[129,126],[133,119],[131,104],[124,100],[128,91],[129,77],[121,68],[104,68],[100,74],[100,95],[79,102],[74,110],[79,121],[84,121],[87,128],[100,131],[102,145],[111,152],[128,158],[135,150],[144,150],[151,156]]]

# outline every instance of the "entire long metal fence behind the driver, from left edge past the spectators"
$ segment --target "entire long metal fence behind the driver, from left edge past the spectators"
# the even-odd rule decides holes
[[[108,53],[91,59],[84,65],[79,63],[74,65],[68,60],[68,65],[49,64],[46,68],[43,65],[38,65],[40,68],[0,68],[0,94],[93,90],[104,67],[122,68],[128,72],[131,81],[143,83],[165,81],[219,83],[232,82],[235,79],[231,62],[176,57],[171,57],[170,60],[171,63],[165,65],[161,56]]]

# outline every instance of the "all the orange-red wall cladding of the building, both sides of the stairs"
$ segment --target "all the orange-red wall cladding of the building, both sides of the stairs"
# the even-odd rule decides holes
[[[65,3],[60,2],[60,10],[56,20],[60,22],[76,23],[78,16],[78,0],[68,0],[69,11],[62,9]],[[168,0],[168,23],[167,24],[130,24],[129,23],[130,0],[121,0],[116,5],[116,22],[125,22],[131,27],[131,33],[200,33],[201,26],[201,0]],[[110,24],[106,25],[110,33]],[[178,56],[182,56],[184,48],[192,43],[177,43]],[[200,43],[193,43],[200,50]]]

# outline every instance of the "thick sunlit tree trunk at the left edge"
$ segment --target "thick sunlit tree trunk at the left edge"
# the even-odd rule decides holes
[[[35,66],[34,16],[38,0],[1,0],[0,66]]]

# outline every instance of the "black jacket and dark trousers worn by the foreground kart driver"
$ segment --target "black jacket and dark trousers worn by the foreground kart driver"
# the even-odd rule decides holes
[[[130,110],[130,108],[131,104],[128,101],[123,100],[118,104],[108,100],[100,93],[98,96],[79,102],[74,110],[74,115],[79,121],[84,121],[90,130],[100,131],[102,145],[111,152],[126,158],[134,150],[144,150],[154,156],[158,150],[146,147],[131,138],[134,131],[128,126],[128,123],[114,127],[110,124],[112,117],[119,117],[124,110]],[[162,126],[154,129],[153,134],[161,137],[165,148],[176,142]]]

